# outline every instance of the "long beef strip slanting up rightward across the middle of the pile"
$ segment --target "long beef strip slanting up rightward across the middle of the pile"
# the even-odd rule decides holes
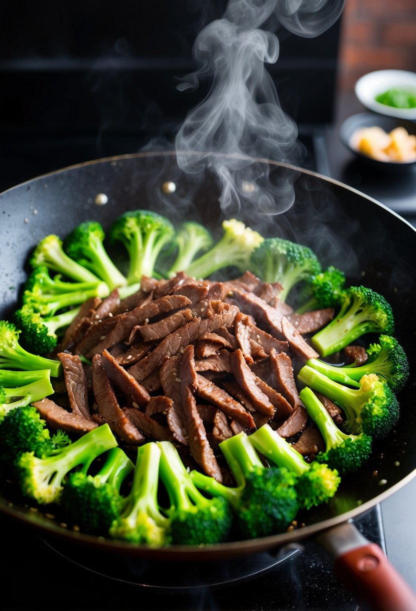
[[[207,331],[216,331],[224,324],[226,326],[232,324],[237,312],[237,308],[229,306],[228,308],[224,307],[222,313],[213,314],[210,318],[194,318],[190,323],[184,324],[174,333],[167,335],[148,356],[132,365],[129,373],[138,382],[142,381],[160,367],[165,356],[178,354],[182,348],[198,340]]]

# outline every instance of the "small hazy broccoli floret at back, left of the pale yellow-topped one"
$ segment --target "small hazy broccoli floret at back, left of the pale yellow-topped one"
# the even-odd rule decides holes
[[[187,269],[199,252],[207,251],[213,245],[213,239],[204,225],[195,221],[187,221],[179,227],[175,243],[178,252],[168,271],[170,277],[182,269]]]

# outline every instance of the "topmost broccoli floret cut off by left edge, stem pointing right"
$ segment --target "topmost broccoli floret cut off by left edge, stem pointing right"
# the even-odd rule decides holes
[[[20,331],[15,324],[0,320],[0,369],[49,369],[52,378],[62,373],[59,360],[47,359],[26,351],[19,343]]]

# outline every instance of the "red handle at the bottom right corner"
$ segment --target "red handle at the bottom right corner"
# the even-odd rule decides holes
[[[335,576],[374,611],[416,611],[416,594],[375,543],[335,559]]]

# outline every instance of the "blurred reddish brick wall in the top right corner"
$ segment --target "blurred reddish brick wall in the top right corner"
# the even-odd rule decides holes
[[[346,0],[339,84],[351,90],[373,70],[416,71],[416,0]]]

